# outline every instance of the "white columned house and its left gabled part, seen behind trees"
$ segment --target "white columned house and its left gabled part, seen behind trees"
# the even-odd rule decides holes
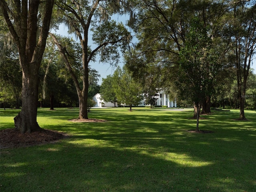
[[[165,94],[163,91],[159,91],[158,92],[158,96],[156,97],[156,105],[158,106],[167,106],[167,107],[177,107],[177,103],[176,100],[175,101],[171,101],[168,97],[168,94]],[[104,102],[104,100],[102,100],[100,98],[100,94],[97,93],[96,95],[93,96],[92,100],[94,100],[96,102],[96,105],[94,107],[114,107],[114,103],[111,102]],[[102,105],[102,103],[104,105]],[[142,106],[146,105],[146,100],[144,99],[141,102]],[[117,103],[116,103],[116,107],[117,107]]]

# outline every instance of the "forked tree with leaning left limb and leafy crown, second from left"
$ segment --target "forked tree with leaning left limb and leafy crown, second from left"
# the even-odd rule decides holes
[[[78,83],[78,76],[74,74],[72,66],[68,62],[68,55],[64,46],[62,46],[54,36],[54,39],[61,54],[64,57],[66,67],[70,72],[76,86],[79,98],[79,116],[80,119],[88,119],[87,98],[88,98],[88,77],[89,63],[96,54],[100,53],[100,62],[118,62],[119,52],[117,47],[122,50],[126,49],[130,42],[130,33],[121,23],[109,20],[109,16],[114,13],[128,9],[129,3],[119,0],[73,0],[57,1],[57,6],[62,10],[61,20],[68,25],[69,31],[74,32],[78,37],[82,48],[82,85]],[[127,6],[126,6],[127,5]],[[100,18],[100,22],[98,22]],[[92,30],[92,41],[96,45],[90,49],[89,39],[90,30]]]

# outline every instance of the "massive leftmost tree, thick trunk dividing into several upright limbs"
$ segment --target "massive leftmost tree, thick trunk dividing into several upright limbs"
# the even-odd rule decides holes
[[[9,3],[9,4],[8,4]],[[22,110],[14,118],[22,133],[39,131],[38,71],[48,36],[53,0],[0,1],[0,8],[18,47],[22,68]]]

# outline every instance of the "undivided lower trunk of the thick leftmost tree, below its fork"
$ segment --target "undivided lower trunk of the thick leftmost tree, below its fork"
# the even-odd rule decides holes
[[[27,65],[29,68],[29,65]],[[15,130],[21,133],[40,131],[42,128],[36,121],[38,102],[38,73],[25,69],[26,74],[22,74],[22,109],[14,117]]]

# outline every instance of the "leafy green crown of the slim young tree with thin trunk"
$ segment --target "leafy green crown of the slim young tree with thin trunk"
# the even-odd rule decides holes
[[[212,66],[218,62],[204,23],[195,17],[190,26],[184,48],[180,50],[178,84],[184,83],[182,92],[198,103],[206,95],[211,95],[215,77],[215,68]]]

